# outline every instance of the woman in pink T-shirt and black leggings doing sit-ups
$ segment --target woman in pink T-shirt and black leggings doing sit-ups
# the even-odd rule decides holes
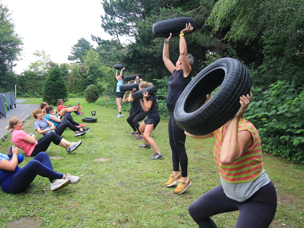
[[[55,132],[51,132],[46,136],[43,136],[40,140],[36,141],[36,136],[29,133],[26,134],[22,131],[23,123],[21,118],[14,116],[9,120],[9,126],[6,127],[6,130],[12,129],[12,141],[16,147],[19,147],[26,153],[29,157],[35,157],[42,151],[46,151],[50,146],[50,143],[53,142],[55,145],[63,147],[67,150],[67,153],[71,153],[73,150],[76,150],[80,145],[81,141],[77,143],[70,143],[61,136],[57,135]]]

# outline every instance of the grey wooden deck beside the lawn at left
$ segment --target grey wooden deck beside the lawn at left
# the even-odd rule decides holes
[[[6,112],[6,118],[0,115],[0,139],[9,133],[6,130],[6,126],[9,126],[9,119],[13,116],[20,116],[21,121],[23,122],[27,117],[32,115],[32,111],[37,108],[40,108],[40,105],[19,105],[16,102],[16,108],[9,109],[9,111]]]

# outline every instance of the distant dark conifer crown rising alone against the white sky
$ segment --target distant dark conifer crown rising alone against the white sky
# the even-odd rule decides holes
[[[93,47],[91,43],[85,38],[80,38],[78,43],[72,47],[72,55],[67,58],[70,61],[78,60],[78,63],[83,63],[85,54]]]

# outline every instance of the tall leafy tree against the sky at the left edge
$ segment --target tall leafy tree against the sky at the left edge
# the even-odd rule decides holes
[[[7,90],[13,78],[12,72],[13,62],[19,60],[22,51],[22,40],[15,33],[15,25],[10,18],[11,13],[6,5],[0,2],[0,89]]]

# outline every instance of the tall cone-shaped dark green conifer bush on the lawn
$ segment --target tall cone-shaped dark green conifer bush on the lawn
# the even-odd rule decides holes
[[[64,72],[58,67],[53,67],[49,71],[49,76],[43,86],[43,101],[49,105],[56,106],[58,99],[63,99],[64,102],[68,101],[67,84],[62,75]]]

